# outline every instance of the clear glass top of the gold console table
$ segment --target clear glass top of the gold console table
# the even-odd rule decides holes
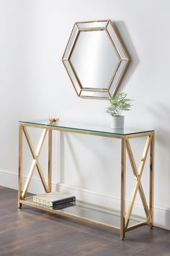
[[[112,129],[107,125],[93,125],[93,124],[86,124],[79,121],[64,121],[60,120],[58,123],[52,123],[46,120],[34,120],[34,121],[19,121],[19,123],[22,124],[32,124],[36,126],[45,126],[45,127],[58,127],[62,128],[63,130],[66,129],[73,129],[73,130],[79,130],[84,132],[97,132],[101,134],[109,134],[109,135],[133,135],[138,133],[145,133],[145,132],[154,132],[153,129]]]

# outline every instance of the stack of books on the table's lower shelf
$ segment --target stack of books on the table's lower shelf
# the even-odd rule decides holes
[[[75,196],[68,196],[61,192],[50,192],[46,194],[34,195],[33,202],[56,210],[66,208],[76,204]]]

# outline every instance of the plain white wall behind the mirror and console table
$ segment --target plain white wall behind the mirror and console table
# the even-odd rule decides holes
[[[125,125],[156,129],[155,220],[156,225],[170,229],[169,8],[168,0],[0,0],[1,185],[17,187],[18,120],[45,119],[56,109],[65,119],[109,125],[104,113],[108,101],[77,98],[61,57],[74,22],[111,19],[132,59],[120,87],[134,99]],[[36,141],[35,132],[32,136]],[[85,200],[108,206],[111,199],[119,202],[120,142],[71,134],[54,135],[54,139],[54,185],[62,182],[63,189],[84,188],[73,191]],[[143,142],[133,142],[136,158]],[[31,157],[24,148],[24,166],[30,167]],[[44,167],[45,156],[44,150]],[[27,172],[24,168],[24,176]],[[128,168],[128,197],[131,178]],[[40,188],[37,179],[35,174],[31,192]]]

